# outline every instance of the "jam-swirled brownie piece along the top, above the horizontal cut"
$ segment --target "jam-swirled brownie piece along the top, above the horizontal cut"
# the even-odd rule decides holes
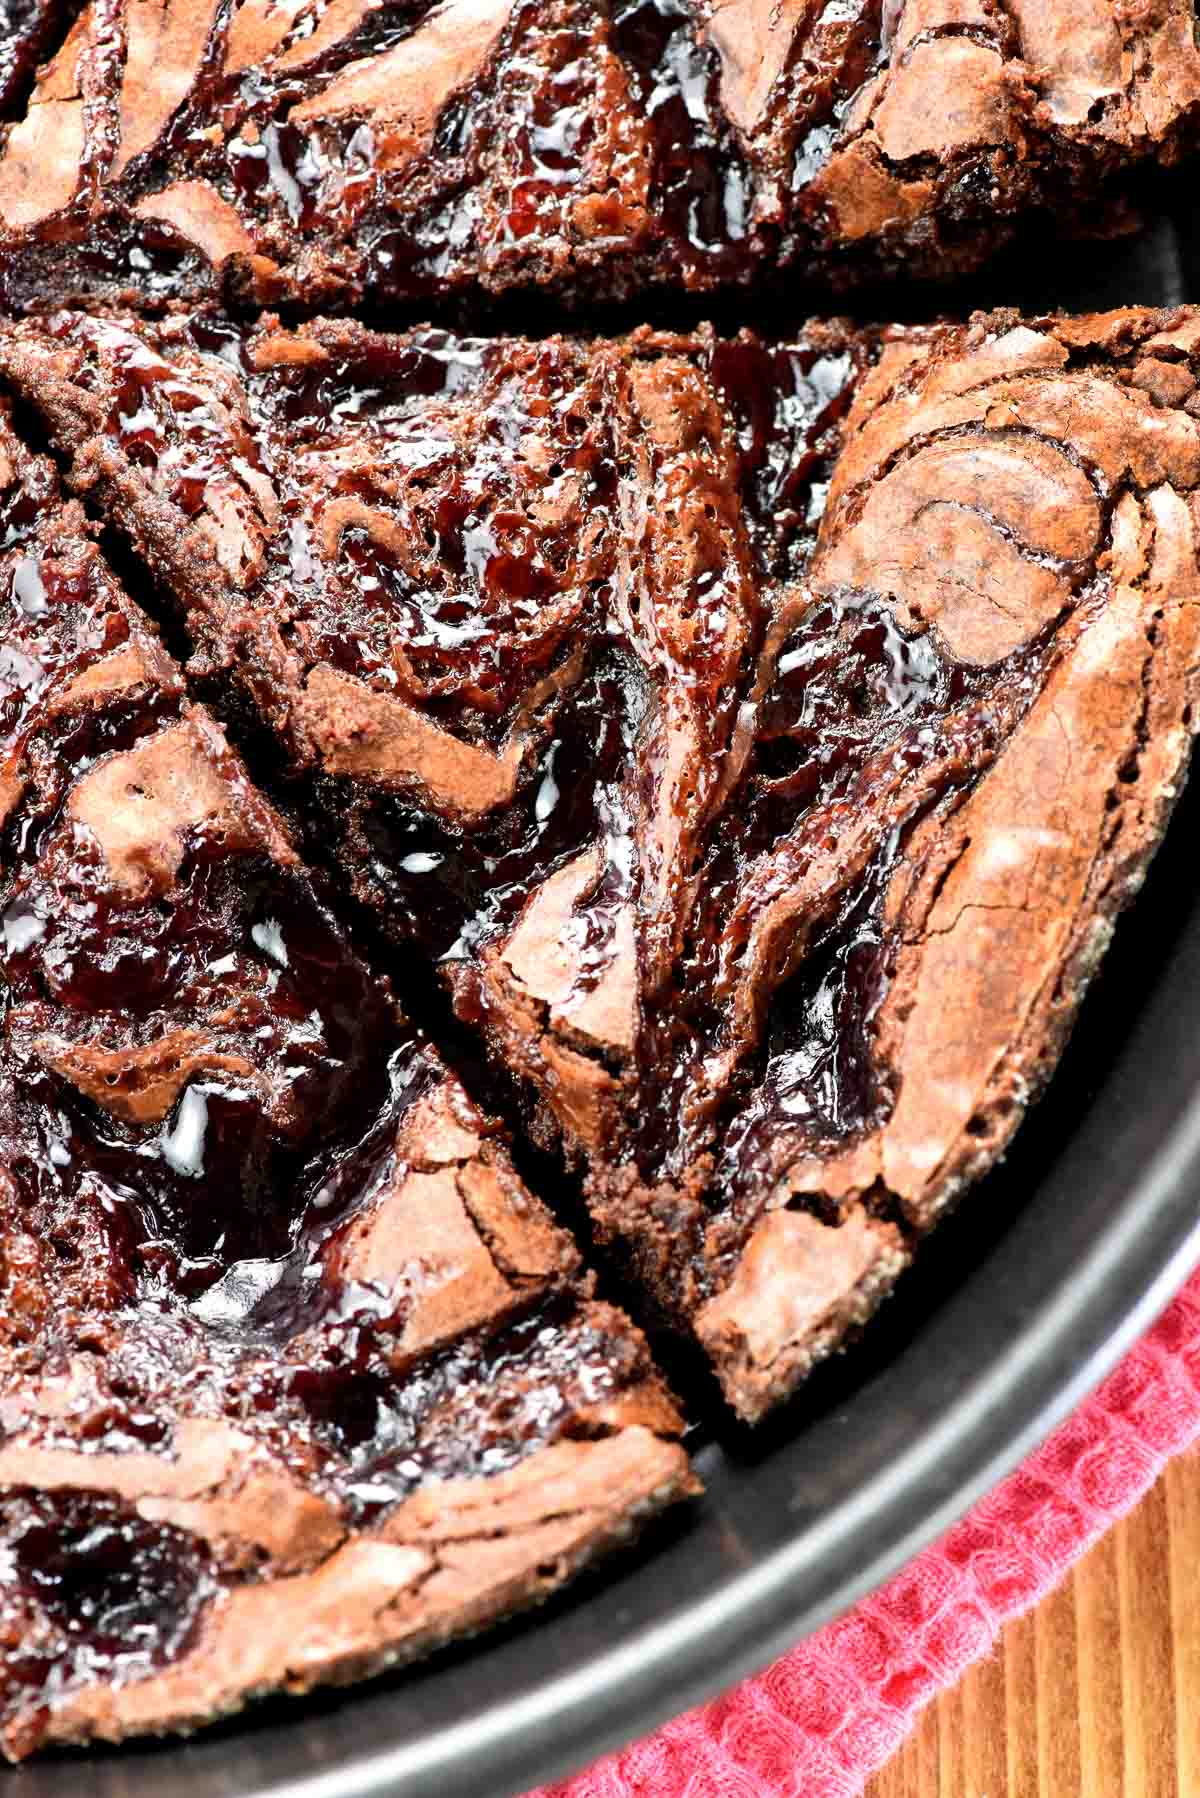
[[[0,298],[946,277],[1198,131],[1191,0],[94,0],[0,151]]]

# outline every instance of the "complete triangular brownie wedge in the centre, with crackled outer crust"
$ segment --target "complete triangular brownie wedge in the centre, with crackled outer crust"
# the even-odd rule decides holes
[[[761,1417],[1002,1153],[1166,825],[1200,313],[74,313],[0,370]]]

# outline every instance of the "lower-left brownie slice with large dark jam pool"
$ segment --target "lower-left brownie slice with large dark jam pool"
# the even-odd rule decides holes
[[[691,1491],[646,1345],[0,417],[0,1748],[191,1730]]]

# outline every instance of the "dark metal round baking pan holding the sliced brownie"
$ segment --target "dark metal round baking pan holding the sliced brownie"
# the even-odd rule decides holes
[[[1123,246],[1072,246],[1054,302],[1200,293],[1193,241],[1164,218]],[[1045,306],[1034,261],[993,277],[988,300]],[[761,1667],[945,1530],[1200,1255],[1198,831],[1200,782],[1047,1097],[864,1340],[756,1433],[678,1370],[709,1419],[693,1433],[702,1500],[477,1643],[189,1744],[36,1762],[22,1798],[504,1798]]]

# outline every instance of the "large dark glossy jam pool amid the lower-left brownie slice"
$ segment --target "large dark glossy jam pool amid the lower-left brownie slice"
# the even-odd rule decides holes
[[[153,899],[113,904],[83,856],[67,872],[56,850],[4,912],[5,939],[27,944],[5,957],[11,1018],[34,1045],[18,1095],[54,1120],[47,1203],[70,1212],[86,1188],[135,1286],[196,1298],[230,1262],[286,1253],[304,1188],[320,1183],[309,1162],[335,1154],[342,1131],[353,1142],[385,1100],[380,1050],[396,1027],[338,935],[273,870],[198,858],[164,915]],[[86,1021],[133,1054],[191,1030],[218,1064],[198,1066],[149,1133],[47,1075],[32,1036],[43,1021],[56,1037]],[[329,1117],[338,1133],[322,1145]]]

